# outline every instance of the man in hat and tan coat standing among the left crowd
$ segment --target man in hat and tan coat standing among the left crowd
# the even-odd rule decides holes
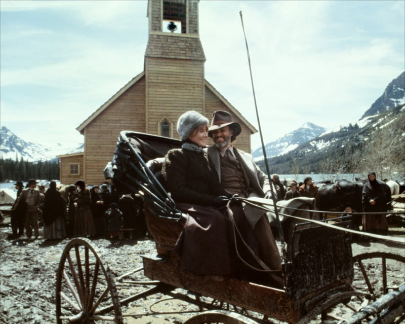
[[[34,229],[35,238],[39,236],[38,229],[38,205],[44,200],[44,195],[36,189],[35,179],[28,180],[28,188],[22,190],[20,196],[17,199],[14,209],[17,208],[18,204],[26,204],[24,227],[26,230],[27,238],[31,238],[32,229]]]

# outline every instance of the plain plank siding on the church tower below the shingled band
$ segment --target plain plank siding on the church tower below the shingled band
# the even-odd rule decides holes
[[[145,57],[146,132],[158,134],[158,123],[167,117],[176,126],[189,110],[203,114],[204,61]],[[173,131],[179,138],[177,131]]]

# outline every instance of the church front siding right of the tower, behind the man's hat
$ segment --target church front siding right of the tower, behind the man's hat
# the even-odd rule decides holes
[[[209,119],[211,123],[212,113],[217,110],[223,110],[229,112],[232,115],[232,121],[239,123],[242,131],[240,132],[239,136],[232,142],[232,145],[235,148],[251,153],[251,142],[250,136],[252,134],[249,127],[242,122],[226,105],[222,102],[218,96],[215,95],[208,87],[205,87],[205,115]],[[214,142],[210,142],[210,145],[213,145]]]

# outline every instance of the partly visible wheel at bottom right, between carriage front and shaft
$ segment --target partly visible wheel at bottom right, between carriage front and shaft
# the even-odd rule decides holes
[[[363,293],[356,291],[337,293],[314,307],[297,324],[337,324],[344,322],[359,308],[357,297],[362,295]]]

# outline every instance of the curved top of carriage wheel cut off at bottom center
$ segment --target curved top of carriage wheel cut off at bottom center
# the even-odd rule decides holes
[[[244,315],[226,310],[208,310],[187,319],[184,324],[258,324],[257,321]]]

